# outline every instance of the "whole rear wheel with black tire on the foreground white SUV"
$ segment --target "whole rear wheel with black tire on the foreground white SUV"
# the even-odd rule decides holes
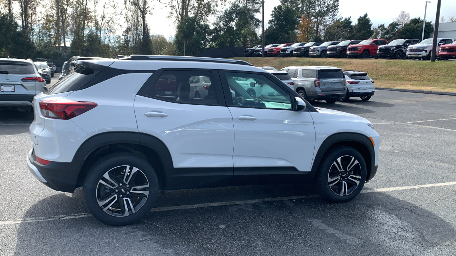
[[[129,166],[127,175],[131,173],[131,176],[125,175],[125,166]],[[106,175],[109,179],[106,179]],[[127,178],[126,184],[122,184]],[[146,185],[147,187],[143,187]],[[90,167],[83,184],[83,193],[88,210],[99,221],[114,226],[129,225],[141,219],[154,206],[158,194],[158,179],[145,159],[131,153],[113,153],[98,159]],[[122,201],[124,204],[121,205]],[[100,203],[103,205],[99,205]],[[128,214],[124,205],[127,205]]]

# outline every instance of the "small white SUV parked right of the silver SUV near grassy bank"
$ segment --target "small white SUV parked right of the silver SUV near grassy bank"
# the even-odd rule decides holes
[[[375,93],[374,80],[368,77],[366,72],[356,70],[344,70],[347,81],[347,93],[340,100],[347,102],[350,97],[360,97],[363,101],[368,101]]]

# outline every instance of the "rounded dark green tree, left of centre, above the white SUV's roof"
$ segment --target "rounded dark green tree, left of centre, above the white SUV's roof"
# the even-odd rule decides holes
[[[186,56],[196,56],[206,51],[211,35],[212,30],[209,25],[202,23],[197,17],[184,18],[181,24],[177,25],[174,39],[176,53],[184,55],[184,47]]]

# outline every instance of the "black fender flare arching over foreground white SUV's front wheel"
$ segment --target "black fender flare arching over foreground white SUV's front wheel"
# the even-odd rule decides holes
[[[372,179],[372,170],[374,169],[374,164],[375,164],[375,150],[373,148],[373,144],[371,140],[361,134],[361,133],[347,133],[347,132],[342,132],[342,133],[334,133],[328,138],[326,138],[320,145],[320,148],[318,148],[318,151],[315,155],[315,159],[312,164],[312,169],[311,173],[309,176],[309,180],[313,180],[315,178],[316,172],[318,170],[318,166],[320,165],[321,159],[323,159],[323,156],[325,155],[326,151],[331,148],[334,145],[346,145],[352,148],[355,148],[356,150],[359,151],[364,157],[364,160],[366,161],[366,167],[367,167],[367,177],[366,181],[369,179]],[[375,175],[375,173],[373,173]]]

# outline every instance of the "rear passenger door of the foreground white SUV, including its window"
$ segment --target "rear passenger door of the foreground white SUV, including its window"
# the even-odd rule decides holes
[[[190,94],[191,77],[208,77],[210,97]],[[171,82],[175,86],[163,85]],[[225,105],[218,72],[156,71],[135,97],[140,134],[161,140],[172,163],[167,189],[227,186],[233,176],[233,118]],[[141,135],[142,136],[142,135]]]

